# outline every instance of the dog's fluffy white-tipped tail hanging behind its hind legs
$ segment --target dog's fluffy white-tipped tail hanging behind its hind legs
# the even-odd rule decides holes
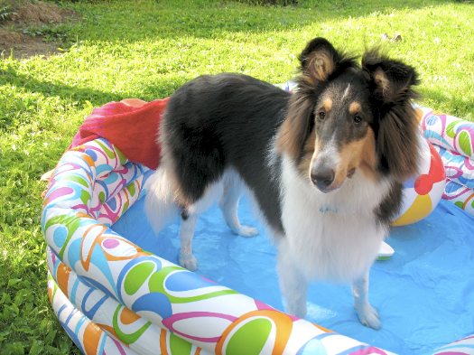
[[[179,213],[169,172],[162,166],[144,184],[144,211],[155,233],[172,223]]]

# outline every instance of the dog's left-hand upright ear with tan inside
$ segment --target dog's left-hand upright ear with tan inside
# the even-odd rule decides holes
[[[298,59],[305,81],[317,84],[327,80],[338,68],[342,55],[328,40],[317,37],[308,42]]]

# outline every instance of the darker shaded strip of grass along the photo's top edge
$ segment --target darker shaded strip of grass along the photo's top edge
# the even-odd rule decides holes
[[[455,0],[319,0],[313,6],[249,6],[232,2],[156,2],[153,5],[107,5],[84,7],[90,31],[74,33],[80,40],[141,41],[149,38],[176,39],[186,36],[212,39],[222,33],[265,33],[301,29],[311,23],[389,14],[393,10],[455,4]],[[91,27],[90,27],[91,26]],[[73,31],[74,32],[74,31]]]

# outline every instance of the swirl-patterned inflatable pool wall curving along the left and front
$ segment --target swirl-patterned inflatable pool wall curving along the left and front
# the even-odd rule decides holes
[[[105,139],[66,152],[46,192],[49,294],[86,354],[386,354],[154,256],[109,226],[145,169]]]

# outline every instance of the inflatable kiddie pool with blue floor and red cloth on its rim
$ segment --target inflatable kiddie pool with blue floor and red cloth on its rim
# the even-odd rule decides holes
[[[384,324],[377,332],[357,321],[347,285],[311,285],[308,320],[278,311],[274,247],[263,229],[251,239],[232,235],[217,209],[197,226],[199,274],[175,265],[178,226],[154,237],[144,218],[153,159],[141,155],[148,146],[136,129],[156,126],[164,105],[126,100],[95,109],[45,194],[50,300],[82,352],[473,353],[474,124],[417,107],[447,183],[429,217],[392,230],[395,256],[373,266],[370,297]],[[241,218],[255,223],[248,210],[244,199]]]

